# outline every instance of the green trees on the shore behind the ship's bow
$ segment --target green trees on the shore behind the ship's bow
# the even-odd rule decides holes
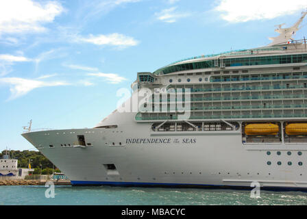
[[[5,151],[0,153],[0,158],[5,155]],[[39,151],[10,151],[11,159],[18,159],[18,168],[28,168],[29,162],[31,168],[34,168],[34,175],[50,175],[53,172],[61,172]]]

